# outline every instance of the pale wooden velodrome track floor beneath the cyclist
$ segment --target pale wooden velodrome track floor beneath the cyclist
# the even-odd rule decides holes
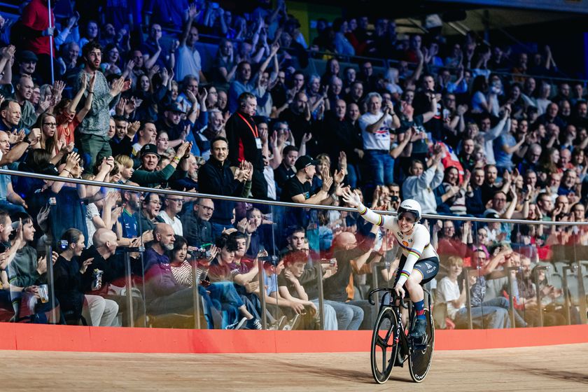
[[[437,351],[414,384],[374,384],[369,353],[146,354],[0,351],[6,391],[588,391],[588,344]]]

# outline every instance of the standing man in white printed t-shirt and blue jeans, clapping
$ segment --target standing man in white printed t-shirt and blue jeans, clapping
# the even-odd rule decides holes
[[[400,127],[392,104],[381,110],[381,95],[370,92],[365,98],[367,113],[359,118],[365,153],[366,178],[372,187],[394,182],[394,160],[390,155],[390,132]]]

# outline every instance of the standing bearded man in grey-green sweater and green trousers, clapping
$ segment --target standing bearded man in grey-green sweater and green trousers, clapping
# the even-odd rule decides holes
[[[102,47],[98,43],[90,41],[85,44],[82,55],[85,66],[78,73],[73,90],[80,90],[83,73],[86,75],[85,80],[91,80],[94,75],[96,78],[94,90],[88,89],[84,92],[86,99],[89,94],[93,94],[94,99],[92,109],[78,126],[79,136],[76,137],[78,150],[80,150],[80,155],[83,156],[85,162],[85,170],[90,172],[94,167],[94,162],[112,155],[110,140],[107,137],[110,122],[109,105],[113,101],[118,102],[120,92],[130,88],[130,81],[119,78],[114,80],[112,87],[109,87],[106,77],[99,71],[102,62]]]

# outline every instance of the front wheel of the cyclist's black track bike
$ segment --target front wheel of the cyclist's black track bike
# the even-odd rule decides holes
[[[391,307],[381,309],[374,332],[372,333],[372,349],[370,360],[372,376],[378,384],[388,381],[398,352],[398,320]]]

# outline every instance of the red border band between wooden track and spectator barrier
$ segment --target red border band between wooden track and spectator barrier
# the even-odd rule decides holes
[[[0,323],[0,349],[113,353],[325,353],[369,351],[371,331],[106,328]],[[471,350],[588,342],[588,325],[437,330],[435,349]]]

